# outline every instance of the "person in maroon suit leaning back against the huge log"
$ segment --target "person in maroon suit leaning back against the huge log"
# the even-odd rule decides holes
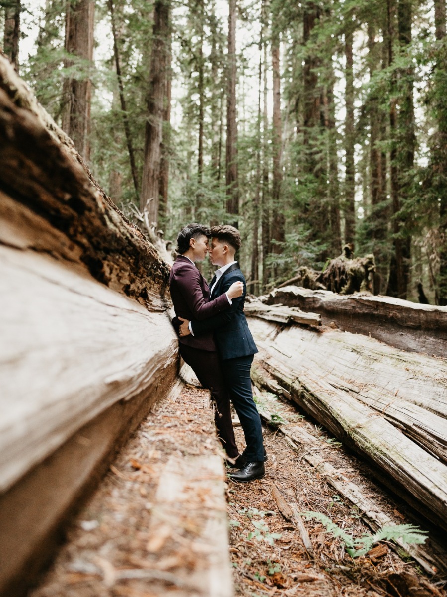
[[[177,253],[169,276],[169,288],[175,314],[182,319],[202,321],[229,310],[232,299],[244,291],[237,281],[226,293],[210,301],[210,291],[194,261],[202,261],[208,253],[209,229],[200,224],[188,224],[177,237]],[[239,451],[231,421],[229,393],[222,376],[213,332],[179,338],[179,353],[190,365],[203,387],[210,390],[215,403],[215,424],[226,454],[237,465]],[[230,461],[231,462],[231,461]]]

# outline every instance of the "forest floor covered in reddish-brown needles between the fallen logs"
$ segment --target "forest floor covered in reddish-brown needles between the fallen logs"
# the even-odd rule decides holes
[[[182,517],[182,531],[154,526],[157,491],[169,459],[173,455],[215,458],[220,453],[207,396],[206,390],[186,384],[175,401],[156,405],[73,522],[67,542],[30,597],[216,597],[225,593],[209,588],[205,578],[209,571],[201,569],[205,558],[195,537],[201,512],[213,501],[209,487],[199,491],[198,502],[197,496],[185,496],[179,504],[182,512],[176,515]],[[292,405],[281,403],[279,409],[283,420],[315,436],[324,459],[355,481],[397,524],[414,522],[405,504],[378,487],[368,467],[321,427]],[[243,448],[242,430],[235,425]],[[225,518],[226,495],[229,522],[231,563],[225,544],[226,554],[210,574],[229,576],[232,567],[236,597],[447,596],[445,576],[427,575],[413,559],[402,552],[399,556],[389,542],[381,541],[367,556],[353,559],[343,541],[327,533],[318,519],[302,518],[304,530],[300,531],[296,518],[284,518],[278,509],[281,497],[295,512],[324,514],[353,537],[371,533],[358,510],[336,494],[278,429],[265,427],[264,438],[268,461],[263,479],[235,484],[225,479],[223,470],[217,476],[203,476],[211,480],[205,483],[217,479],[225,489],[223,507],[219,498],[211,507],[220,508]],[[306,533],[311,541],[308,550]],[[424,548],[429,550],[430,538],[427,544]],[[203,553],[203,544],[201,549]]]

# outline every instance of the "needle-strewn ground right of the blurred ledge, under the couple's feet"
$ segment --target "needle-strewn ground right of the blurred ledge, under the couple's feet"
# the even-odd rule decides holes
[[[405,504],[378,487],[372,481],[370,469],[347,453],[321,427],[284,402],[280,404],[280,416],[303,426],[318,438],[325,460],[355,482],[365,496],[374,498],[396,524],[414,524],[414,520],[406,516]],[[242,444],[241,429],[236,432],[238,443]],[[382,541],[367,556],[352,558],[340,538],[327,533],[318,520],[305,518],[312,558],[294,521],[287,521],[278,511],[272,496],[274,488],[286,503],[296,504],[299,512],[324,514],[354,538],[373,531],[362,522],[358,510],[338,496],[306,463],[303,453],[291,449],[278,430],[266,428],[264,439],[269,457],[265,478],[242,487],[231,483],[228,490],[236,595],[422,597],[447,594],[443,590],[446,578],[442,573],[426,576],[411,558],[403,554],[399,557],[391,549],[391,543]],[[428,548],[429,543],[430,540],[426,541]]]

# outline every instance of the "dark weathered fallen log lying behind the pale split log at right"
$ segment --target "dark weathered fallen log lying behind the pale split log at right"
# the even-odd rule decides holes
[[[372,336],[403,350],[445,357],[447,307],[372,294],[341,295],[297,286],[276,288],[260,300],[319,313],[323,325]]]

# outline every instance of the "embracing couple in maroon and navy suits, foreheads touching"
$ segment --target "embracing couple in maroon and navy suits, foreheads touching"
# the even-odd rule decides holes
[[[244,315],[246,283],[235,254],[241,235],[233,226],[188,224],[177,237],[178,257],[170,272],[170,294],[178,329],[179,352],[203,387],[211,392],[219,440],[235,470],[233,481],[265,475],[267,460],[259,413],[253,401],[250,368],[257,352]],[[219,266],[207,285],[194,261]],[[239,453],[231,422],[230,401],[238,414],[247,444]]]

